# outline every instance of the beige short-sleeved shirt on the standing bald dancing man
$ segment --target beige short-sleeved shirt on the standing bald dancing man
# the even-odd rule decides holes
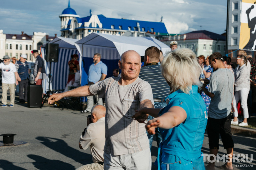
[[[90,86],[92,94],[105,97],[106,143],[104,152],[124,155],[149,148],[144,123],[132,119],[140,102],[149,99],[154,105],[151,86],[139,77],[129,85],[119,85],[121,77],[110,77]]]

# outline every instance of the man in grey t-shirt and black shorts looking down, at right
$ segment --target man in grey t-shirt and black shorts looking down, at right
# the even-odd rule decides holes
[[[213,53],[209,57],[209,63],[214,72],[211,74],[209,88],[202,90],[206,95],[211,97],[208,113],[208,138],[210,154],[215,156],[219,150],[219,135],[221,136],[224,148],[227,149],[227,154],[230,154],[229,160],[226,164],[222,165],[223,169],[233,169],[232,156],[234,142],[231,133],[231,103],[234,91],[234,75],[229,71],[224,63],[222,55],[218,52]],[[206,79],[205,79],[205,83]],[[214,157],[211,156],[210,160]],[[214,169],[215,162],[210,162],[207,169]]]

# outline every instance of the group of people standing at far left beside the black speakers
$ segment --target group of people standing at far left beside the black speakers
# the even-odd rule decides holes
[[[7,89],[10,92],[9,107],[14,107],[15,89],[19,95],[19,103],[27,103],[28,101],[28,85],[42,85],[42,80],[46,79],[44,60],[40,57],[38,50],[31,51],[36,59],[33,74],[31,73],[31,65],[28,63],[27,55],[22,54],[17,61],[15,57],[10,58],[8,55],[3,57],[0,63],[2,78],[2,106],[7,107]],[[11,62],[12,60],[12,62]],[[15,87],[16,86],[16,87]],[[23,94],[24,91],[24,94]]]

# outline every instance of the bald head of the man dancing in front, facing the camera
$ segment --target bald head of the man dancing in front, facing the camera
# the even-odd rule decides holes
[[[125,79],[135,79],[139,76],[141,67],[141,57],[136,52],[128,52],[123,61],[119,61],[119,68],[122,70],[122,77]]]

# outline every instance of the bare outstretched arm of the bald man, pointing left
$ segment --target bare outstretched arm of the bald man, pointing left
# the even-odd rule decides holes
[[[53,94],[48,98],[48,104],[53,104],[54,102],[64,98],[64,97],[84,97],[84,96],[90,96],[93,95],[89,90],[89,85],[87,86],[81,86],[78,88],[75,88],[70,91],[66,91],[59,94]]]

